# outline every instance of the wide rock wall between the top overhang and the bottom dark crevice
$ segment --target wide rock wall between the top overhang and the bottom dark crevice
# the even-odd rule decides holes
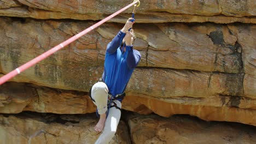
[[[3,74],[94,23],[0,19],[0,65]],[[24,92],[14,94],[13,90],[8,91],[8,87],[27,87],[25,84],[4,86],[1,112],[94,112],[94,105],[85,95],[101,76],[106,45],[120,28],[121,25],[116,23],[104,24],[16,76],[12,81],[59,90],[28,86],[30,90],[26,90],[26,95],[29,96],[24,97]],[[141,97],[151,102],[142,100],[124,106],[124,109],[139,113],[155,112],[165,117],[187,113],[207,121],[255,125],[254,25],[148,23],[137,24],[135,29],[137,38],[134,45],[141,51],[142,61],[126,92],[133,98],[130,101],[136,102],[137,97]],[[154,101],[158,101],[156,104],[159,106],[174,106],[179,110],[162,110]],[[241,112],[244,114],[240,115]],[[235,113],[234,116],[230,116],[231,113]]]

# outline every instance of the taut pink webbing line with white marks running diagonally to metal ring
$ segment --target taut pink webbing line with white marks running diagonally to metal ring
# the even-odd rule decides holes
[[[73,37],[67,39],[66,41],[63,41],[63,43],[51,48],[50,50],[44,52],[42,55],[37,56],[36,58],[32,59],[31,61],[21,65],[19,68],[16,68],[15,70],[11,71],[10,73],[2,76],[0,78],[0,85],[2,85],[4,82],[8,81],[9,79],[13,78],[14,76],[20,74],[22,71],[32,67],[33,65],[37,64],[40,61],[43,61],[43,59],[49,57],[50,55],[52,55],[53,53],[55,53],[56,51],[59,51],[60,49],[62,49],[63,47],[69,45],[70,43],[72,43],[73,41],[77,40],[78,38],[82,37],[83,35],[85,35],[86,33],[92,31],[92,29],[95,29],[96,27],[102,25],[102,23],[112,19],[114,16],[120,14],[122,11],[126,10],[127,8],[130,8],[133,4],[136,4],[138,1],[133,1],[133,3],[127,5],[126,7],[124,7],[123,9],[118,10],[117,12],[115,12],[112,15],[109,15],[108,17],[106,17],[105,19],[95,23],[94,25],[92,25],[89,28],[86,28],[84,31],[74,35]]]

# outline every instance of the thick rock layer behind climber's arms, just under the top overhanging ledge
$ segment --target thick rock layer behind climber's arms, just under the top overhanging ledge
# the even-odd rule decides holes
[[[4,17],[0,20],[2,73],[18,67],[14,63],[24,64],[95,23]],[[102,66],[106,46],[122,26],[106,23],[40,63],[53,64],[54,67]],[[31,31],[27,31],[28,28]],[[135,32],[134,47],[141,52],[141,67],[241,73],[245,64],[246,73],[253,73],[254,69],[250,68],[253,59],[249,58],[253,47],[249,46],[254,40],[240,36],[254,37],[253,25],[138,23]],[[243,49],[246,49],[245,53]]]

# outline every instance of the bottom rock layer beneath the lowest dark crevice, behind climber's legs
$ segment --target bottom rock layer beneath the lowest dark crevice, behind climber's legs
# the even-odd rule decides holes
[[[162,118],[125,113],[110,143],[255,143],[256,130],[238,123],[203,122],[188,116]],[[91,115],[27,113],[0,115],[2,143],[94,143]],[[129,136],[131,134],[131,137]]]

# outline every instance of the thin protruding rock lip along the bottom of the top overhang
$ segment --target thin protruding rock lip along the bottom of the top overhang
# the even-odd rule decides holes
[[[110,14],[109,14],[110,15]],[[33,19],[74,19],[74,20],[103,20],[107,14],[67,14],[55,11],[47,11],[33,8],[8,8],[0,9],[0,16],[9,17],[30,17]],[[124,23],[131,14],[119,14],[107,22]],[[225,15],[189,15],[189,14],[170,14],[164,12],[151,12],[145,14],[136,14],[136,23],[164,23],[164,22],[214,22],[214,23],[256,23],[255,17],[235,17]]]

